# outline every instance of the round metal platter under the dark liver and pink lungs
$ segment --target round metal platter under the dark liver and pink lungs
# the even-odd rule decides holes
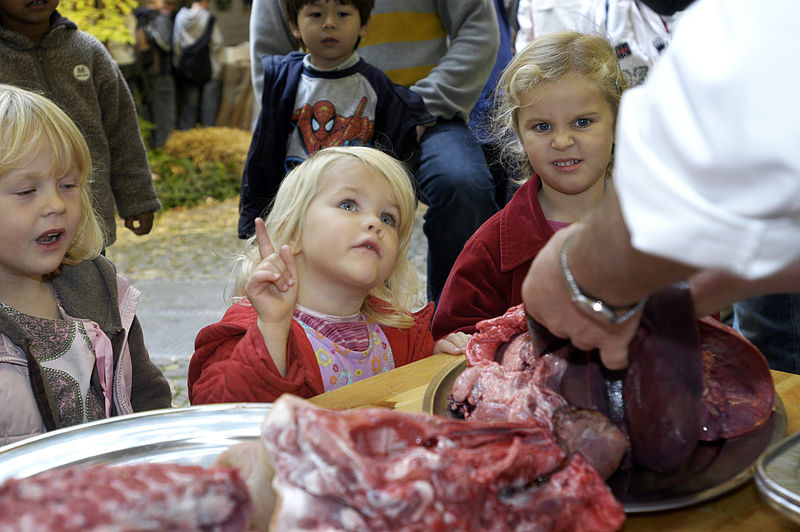
[[[448,409],[453,383],[467,362],[455,360],[431,381],[422,401],[423,411],[451,416]],[[758,429],[716,442],[700,442],[678,470],[655,473],[644,468],[618,471],[607,480],[628,513],[674,510],[719,497],[748,482],[759,456],[786,435],[786,410],[775,395],[772,416]]]

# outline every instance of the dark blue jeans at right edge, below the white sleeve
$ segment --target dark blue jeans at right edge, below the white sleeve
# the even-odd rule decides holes
[[[770,368],[800,373],[800,294],[738,301],[733,326],[761,350]]]

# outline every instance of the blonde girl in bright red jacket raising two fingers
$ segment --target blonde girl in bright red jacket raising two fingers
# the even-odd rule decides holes
[[[311,397],[431,355],[433,305],[408,261],[415,197],[404,167],[365,147],[326,148],[284,178],[240,260],[240,299],[195,340],[193,404]]]

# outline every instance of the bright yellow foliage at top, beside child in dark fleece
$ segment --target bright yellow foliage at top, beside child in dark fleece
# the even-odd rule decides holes
[[[138,0],[62,0],[58,12],[101,42],[133,44],[134,36],[126,20],[137,7]]]

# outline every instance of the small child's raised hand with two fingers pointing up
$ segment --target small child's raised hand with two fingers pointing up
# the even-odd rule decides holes
[[[297,268],[290,246],[275,252],[264,220],[256,218],[256,241],[261,262],[244,285],[250,303],[265,324],[288,324],[297,302]]]

